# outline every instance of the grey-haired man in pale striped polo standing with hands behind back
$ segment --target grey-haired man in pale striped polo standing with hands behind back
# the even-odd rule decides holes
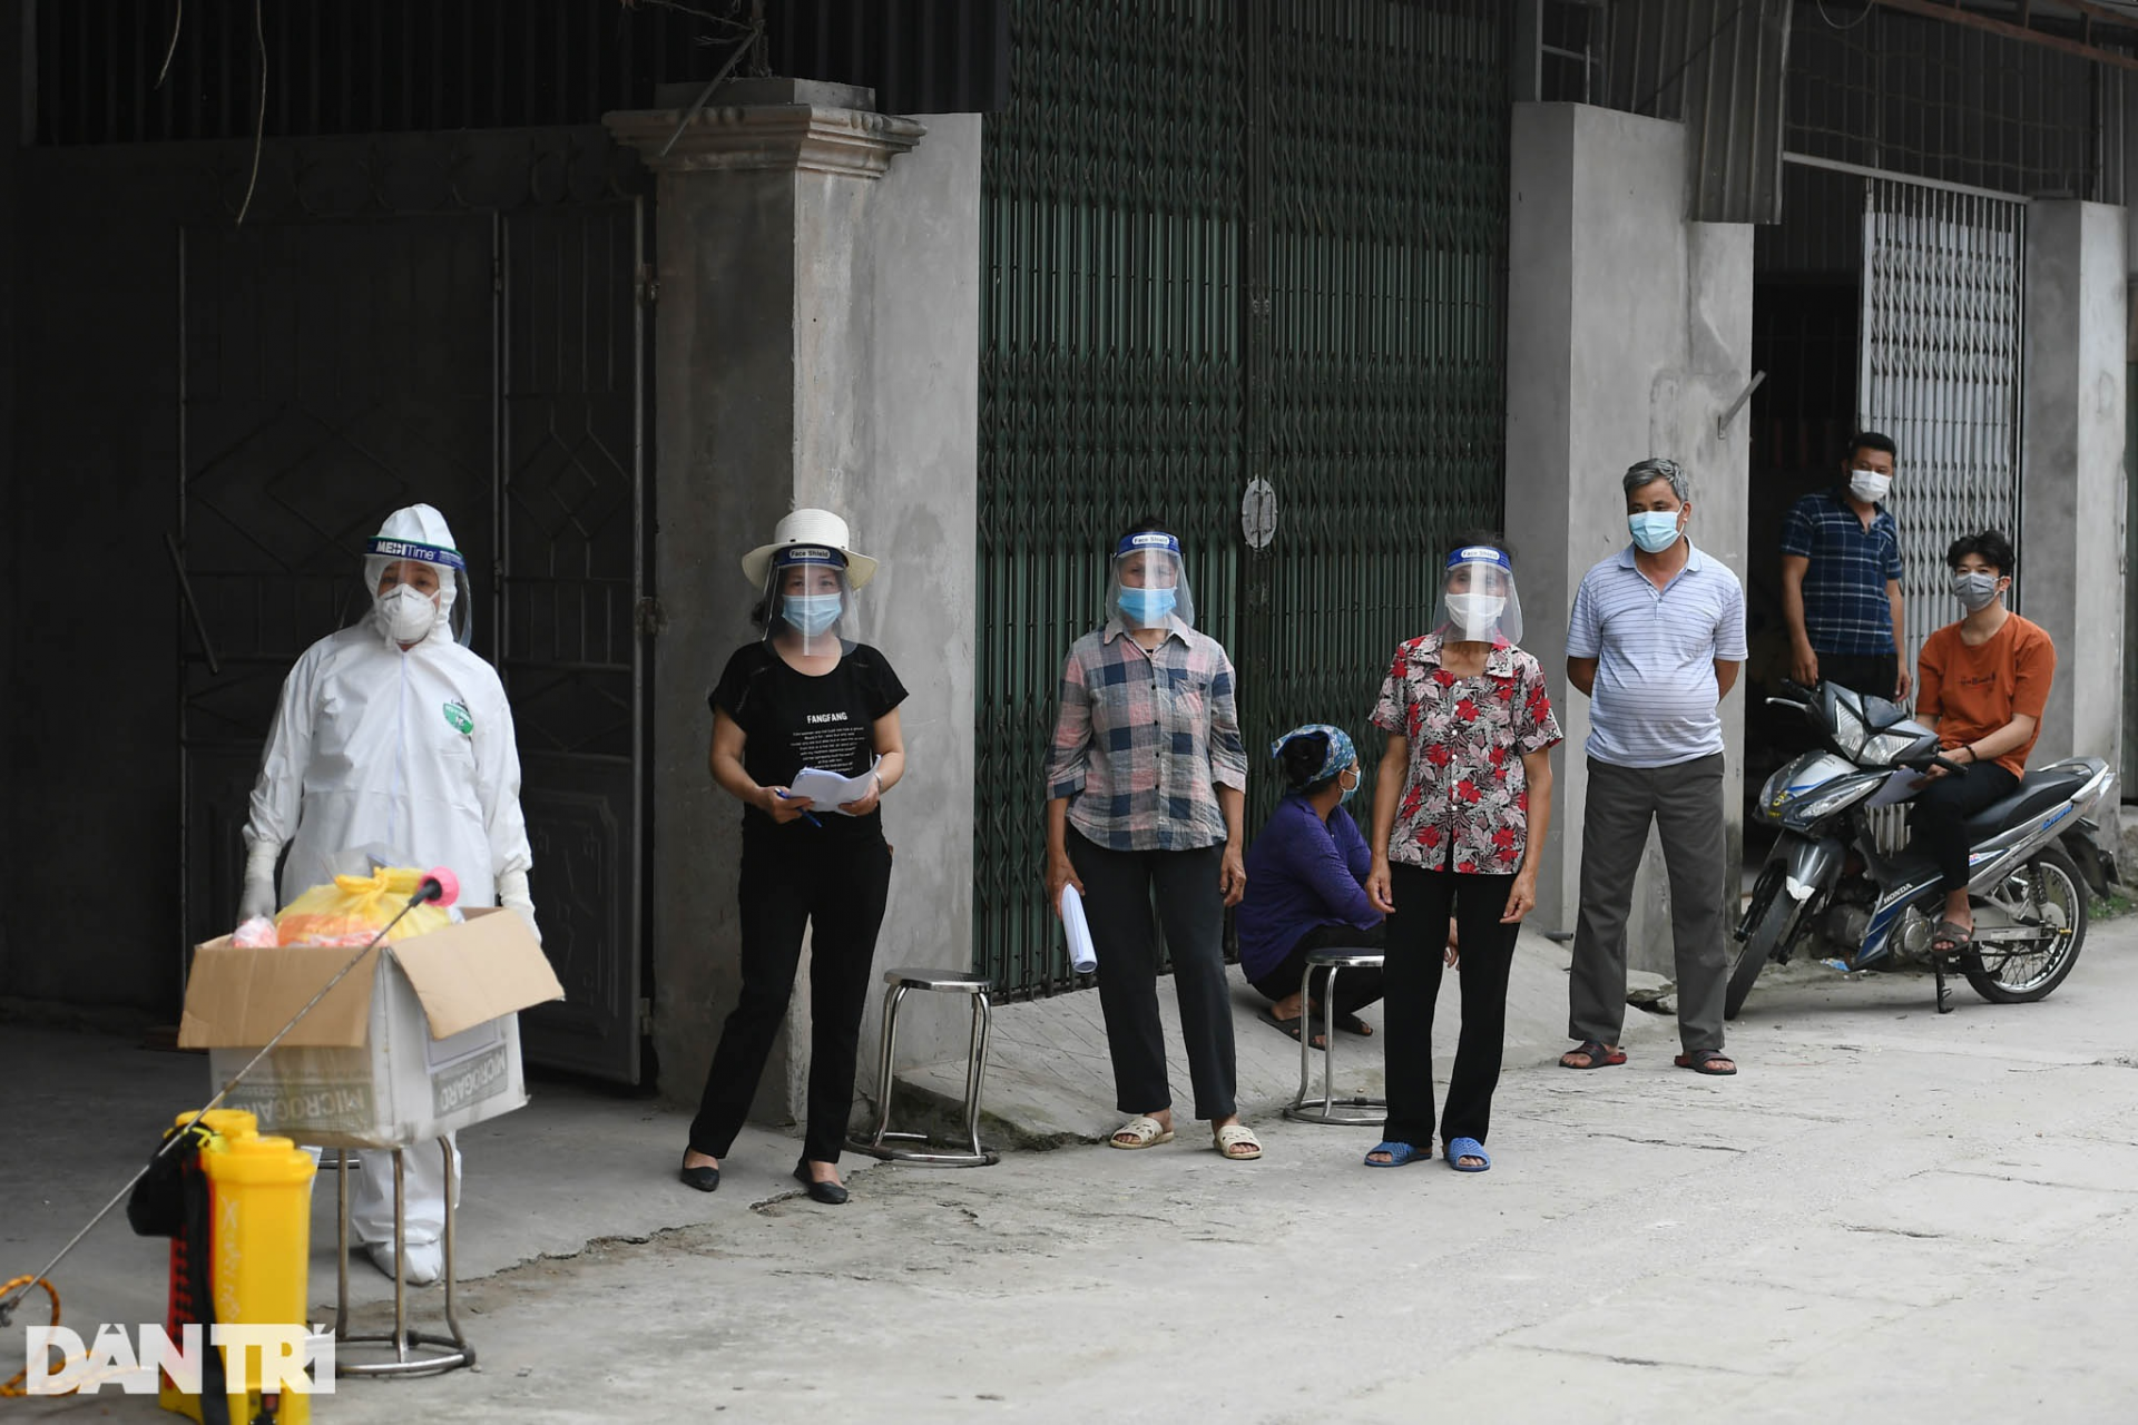
[[[1745,662],[1745,588],[1693,549],[1691,483],[1676,461],[1625,472],[1633,543],[1582,577],[1567,682],[1589,703],[1582,904],[1574,927],[1565,1068],[1625,1064],[1625,921],[1648,823],[1670,872],[1680,1068],[1734,1075],[1723,1053],[1723,720]]]

